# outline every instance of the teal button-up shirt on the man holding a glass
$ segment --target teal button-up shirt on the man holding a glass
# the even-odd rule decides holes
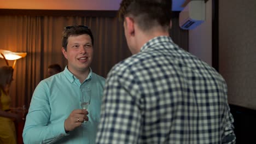
[[[23,131],[25,143],[95,143],[105,79],[90,73],[83,83],[67,69],[42,80],[34,90]],[[65,133],[64,122],[80,107],[80,88],[91,88],[89,123]]]

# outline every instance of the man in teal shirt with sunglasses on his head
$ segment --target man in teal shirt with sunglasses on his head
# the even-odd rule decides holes
[[[62,53],[68,65],[41,81],[34,90],[23,131],[24,143],[95,143],[105,79],[92,73],[94,39],[87,26],[68,26]],[[80,89],[91,88],[87,110],[80,106]],[[83,121],[89,121],[81,126]]]

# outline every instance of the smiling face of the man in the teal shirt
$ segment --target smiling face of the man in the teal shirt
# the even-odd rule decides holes
[[[90,70],[94,55],[91,37],[88,34],[71,35],[68,38],[67,51],[62,47],[62,53],[68,60],[68,70],[71,73]]]

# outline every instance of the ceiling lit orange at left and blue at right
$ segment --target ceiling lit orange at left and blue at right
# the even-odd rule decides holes
[[[187,0],[172,0],[172,11],[181,11]],[[121,0],[0,0],[0,9],[118,10]]]

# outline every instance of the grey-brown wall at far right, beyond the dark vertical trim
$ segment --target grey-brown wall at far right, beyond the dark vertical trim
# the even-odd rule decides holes
[[[219,1],[219,72],[230,104],[256,110],[256,1]]]

